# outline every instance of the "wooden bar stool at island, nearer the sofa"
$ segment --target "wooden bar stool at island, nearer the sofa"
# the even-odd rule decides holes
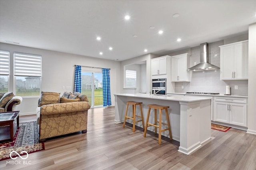
[[[128,111],[129,104],[132,105],[132,114],[133,114],[132,117],[127,116],[127,111]],[[142,104],[142,102],[134,102],[134,101],[126,102],[126,112],[125,112],[125,116],[124,116],[124,125],[123,125],[123,127],[125,126],[126,119],[132,119],[133,120],[132,132],[135,132],[135,123],[139,122],[139,121],[142,121],[143,129],[145,129],[144,118],[143,118],[143,113],[142,113],[142,105],[141,104]],[[140,105],[140,114],[141,114],[141,116],[136,115],[136,106],[137,105]],[[136,117],[140,117],[141,120],[136,121],[135,120]]]

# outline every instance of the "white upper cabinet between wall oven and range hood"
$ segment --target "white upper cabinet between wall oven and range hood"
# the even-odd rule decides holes
[[[190,82],[190,71],[187,71],[188,53],[175,55],[171,58],[172,82]]]

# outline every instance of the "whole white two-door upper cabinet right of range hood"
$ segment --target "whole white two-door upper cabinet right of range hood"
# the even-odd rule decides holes
[[[248,79],[248,40],[220,46],[220,80]]]

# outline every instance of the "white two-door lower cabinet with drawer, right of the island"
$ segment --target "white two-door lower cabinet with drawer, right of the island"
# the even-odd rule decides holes
[[[214,101],[213,121],[247,126],[246,98],[220,98]]]

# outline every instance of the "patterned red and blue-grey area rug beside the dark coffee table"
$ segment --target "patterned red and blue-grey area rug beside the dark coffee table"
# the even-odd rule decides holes
[[[9,159],[12,151],[22,156],[26,152],[29,154],[40,150],[44,150],[44,143],[39,143],[36,121],[20,123],[14,135],[14,141],[0,143],[0,160]],[[18,156],[15,152],[12,152],[12,158]]]

